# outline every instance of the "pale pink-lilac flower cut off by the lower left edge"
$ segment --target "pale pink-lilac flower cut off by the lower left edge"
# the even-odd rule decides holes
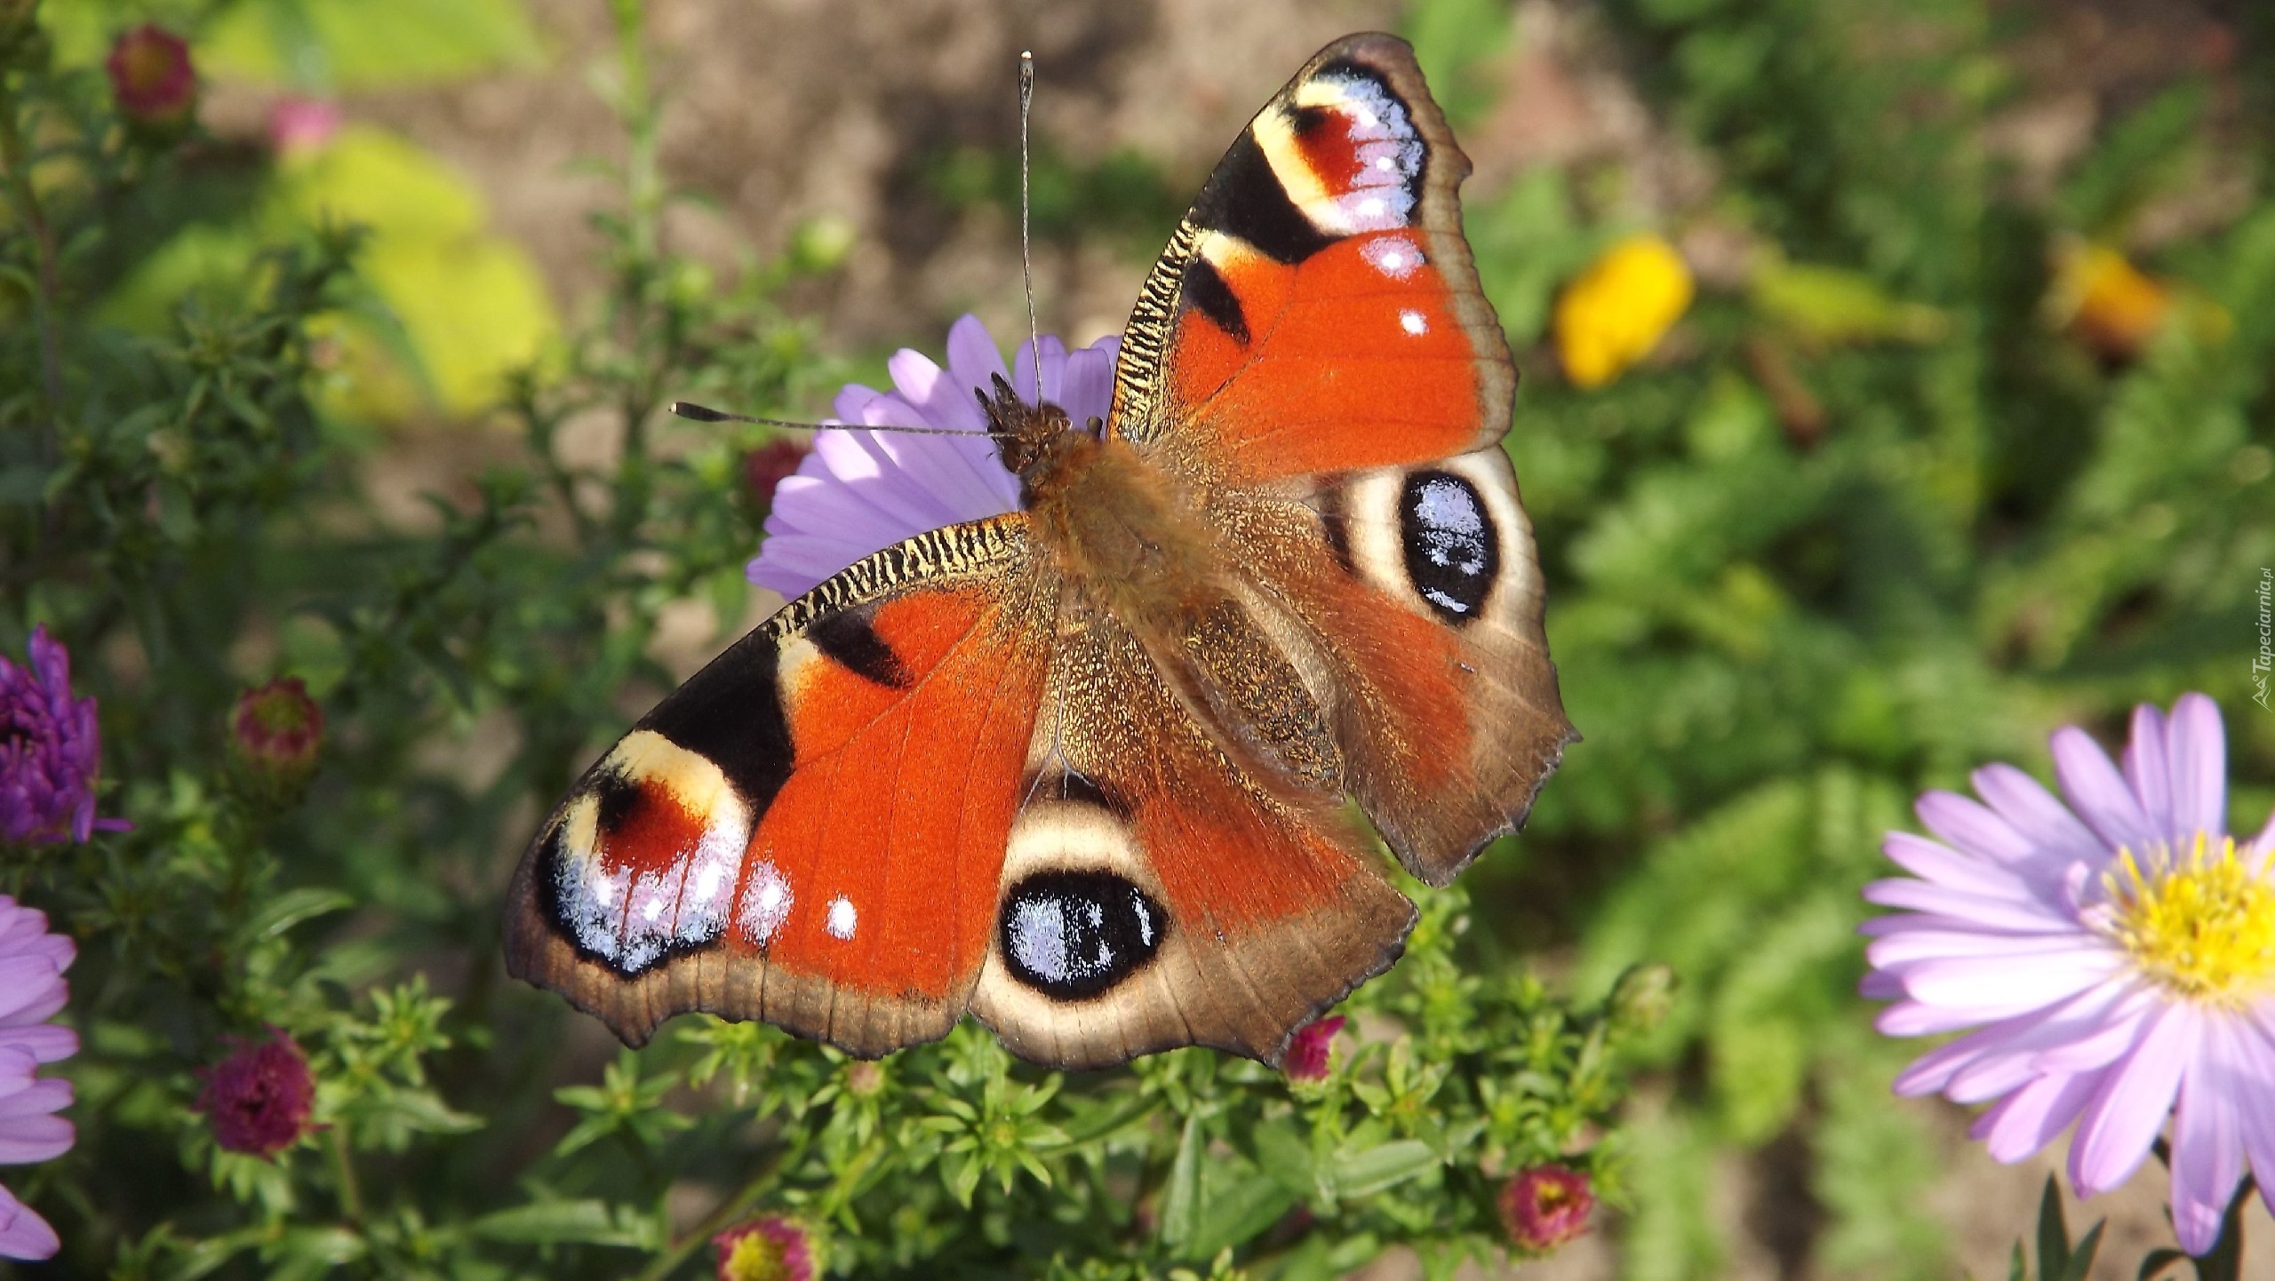
[[[55,1160],[77,1138],[55,1115],[71,1106],[71,1081],[34,1076],[41,1063],[80,1051],[80,1033],[48,1022],[71,994],[73,956],[43,912],[0,894],[0,1165]],[[52,1258],[59,1247],[48,1220],[0,1188],[0,1258]]]

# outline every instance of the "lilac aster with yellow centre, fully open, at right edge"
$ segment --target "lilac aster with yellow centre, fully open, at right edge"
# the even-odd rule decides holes
[[[1988,1104],[1975,1138],[2022,1160],[2073,1122],[2070,1183],[2123,1183],[2173,1115],[2173,1224],[2204,1254],[2259,1170],[2275,1201],[2275,821],[2227,835],[2220,710],[2141,705],[2123,769],[2054,733],[2068,803],[2011,765],[1970,801],[1920,796],[1941,840],[1888,835],[1911,876],[1866,899],[1866,997],[1888,1035],[1972,1028],[1895,1078],[1900,1094]],[[2177,1106],[2177,1110],[2175,1110]]]

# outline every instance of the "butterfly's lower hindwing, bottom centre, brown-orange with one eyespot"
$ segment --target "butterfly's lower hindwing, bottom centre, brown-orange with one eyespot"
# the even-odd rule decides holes
[[[1279,1063],[1399,956],[1413,903],[1333,794],[1269,792],[1128,630],[1072,612],[974,1013],[1065,1067],[1181,1044]]]

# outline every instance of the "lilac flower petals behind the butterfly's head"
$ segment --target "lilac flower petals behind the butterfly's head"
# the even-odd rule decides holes
[[[1119,337],[1067,350],[1042,339],[1042,396],[1076,423],[1103,419],[1115,394]],[[892,391],[849,385],[837,394],[837,416],[826,423],[894,428],[951,428],[960,437],[899,432],[814,432],[814,453],[796,476],[774,489],[767,542],[751,562],[751,582],[783,596],[803,596],[855,560],[926,530],[978,521],[1019,507],[1019,478],[1003,469],[985,435],[987,416],[976,391],[996,375],[1010,378],[1021,400],[1035,403],[1035,359],[1019,344],[1010,369],[976,316],[949,330],[949,366],[901,348],[887,364]]]

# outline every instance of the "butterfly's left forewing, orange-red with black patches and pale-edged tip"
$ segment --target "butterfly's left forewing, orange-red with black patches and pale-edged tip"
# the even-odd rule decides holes
[[[787,605],[546,821],[507,967],[635,1044],[682,1010],[871,1056],[946,1033],[994,928],[1049,592],[1001,516]]]

